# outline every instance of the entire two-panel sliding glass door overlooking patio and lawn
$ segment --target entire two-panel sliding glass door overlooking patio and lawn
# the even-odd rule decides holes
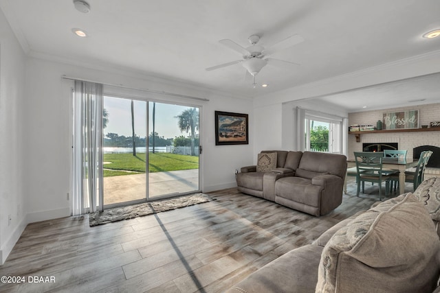
[[[103,108],[104,205],[199,191],[199,108],[105,96]]]

